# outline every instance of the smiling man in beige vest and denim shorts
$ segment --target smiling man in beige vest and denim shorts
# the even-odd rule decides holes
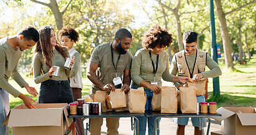
[[[198,44],[197,34],[194,31],[186,31],[183,34],[183,44],[185,49],[177,52],[172,59],[170,72],[173,75],[178,73],[179,76],[188,76],[193,81],[200,81],[203,77],[217,77],[221,75],[219,65],[212,60],[207,52],[196,49]],[[205,66],[209,67],[209,71],[205,71]],[[174,83],[179,89],[182,84]],[[204,95],[196,96],[197,102],[205,102]],[[205,127],[205,118],[200,118]],[[184,134],[185,126],[188,125],[188,118],[173,118],[173,122],[178,124],[177,134]],[[191,118],[191,122],[195,127],[194,134],[202,134],[199,130],[198,118]]]

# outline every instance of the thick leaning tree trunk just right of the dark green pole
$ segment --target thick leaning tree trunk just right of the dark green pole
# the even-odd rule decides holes
[[[220,30],[221,30],[221,36],[223,40],[223,50],[224,50],[224,57],[225,57],[225,65],[226,68],[234,69],[234,64],[232,61],[232,46],[230,41],[230,36],[228,35],[228,28],[227,23],[225,19],[225,13],[223,12],[222,6],[221,6],[221,0],[214,0],[215,6],[216,6],[216,12],[218,14],[218,19],[220,22]]]

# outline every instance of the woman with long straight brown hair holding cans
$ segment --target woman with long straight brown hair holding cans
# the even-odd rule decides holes
[[[72,67],[65,69],[65,60],[70,58],[67,47],[62,47],[56,40],[54,29],[44,26],[39,29],[39,41],[33,56],[33,76],[36,84],[41,83],[38,103],[70,103],[74,102],[68,77]],[[71,60],[71,66],[74,60]],[[58,76],[52,76],[60,67]]]

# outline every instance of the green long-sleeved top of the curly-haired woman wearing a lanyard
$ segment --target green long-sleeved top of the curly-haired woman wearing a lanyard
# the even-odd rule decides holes
[[[151,56],[156,68],[157,54],[151,53]],[[158,86],[162,86],[162,77],[164,81],[172,81],[173,76],[174,75],[169,72],[169,57],[166,51],[162,51],[159,54],[156,80],[154,80],[155,74],[148,50],[144,48],[138,50],[132,59],[131,77],[132,84],[136,87],[140,87],[140,83],[143,80],[148,83],[156,81]]]

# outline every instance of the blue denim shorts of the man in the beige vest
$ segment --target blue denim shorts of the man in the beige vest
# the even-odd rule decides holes
[[[204,95],[196,96],[197,102],[205,102]],[[188,125],[188,118],[172,118],[174,123],[179,125]],[[199,127],[198,118],[191,118],[191,122],[194,127]],[[200,118],[200,122],[203,122],[203,127],[206,127],[206,118]]]

